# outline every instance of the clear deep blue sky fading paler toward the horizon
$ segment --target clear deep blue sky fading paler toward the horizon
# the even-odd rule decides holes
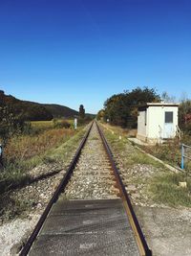
[[[0,0],[0,89],[96,113],[115,93],[191,97],[191,1]]]

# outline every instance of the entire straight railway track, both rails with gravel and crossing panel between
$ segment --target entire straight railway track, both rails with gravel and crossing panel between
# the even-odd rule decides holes
[[[152,255],[96,122],[20,255]]]

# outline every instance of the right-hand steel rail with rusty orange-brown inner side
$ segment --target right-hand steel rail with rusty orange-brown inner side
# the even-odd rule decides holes
[[[105,136],[103,135],[103,132],[102,132],[101,128],[99,128],[97,122],[96,122],[96,127],[98,129],[98,132],[99,132],[101,140],[103,142],[105,151],[108,154],[110,163],[112,165],[114,174],[116,176],[117,187],[119,189],[120,197],[122,198],[123,205],[125,207],[125,210],[127,212],[129,221],[130,221],[132,229],[134,231],[135,238],[136,238],[136,241],[137,241],[137,244],[138,244],[139,253],[140,253],[141,256],[152,256],[152,251],[149,249],[148,244],[146,243],[146,240],[144,238],[144,235],[143,235],[142,230],[140,228],[140,225],[138,223],[138,219],[136,217],[135,211],[133,209],[131,200],[128,197],[125,186],[123,185],[122,179],[121,179],[121,177],[119,175],[119,172],[117,170],[117,165],[114,161],[113,153],[112,153],[112,151],[111,151],[111,149],[108,145],[108,142],[107,142]]]

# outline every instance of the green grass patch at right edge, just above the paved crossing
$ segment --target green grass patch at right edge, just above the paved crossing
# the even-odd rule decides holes
[[[181,188],[179,182],[186,181],[187,188]],[[149,192],[154,201],[169,206],[191,207],[191,178],[182,174],[155,176],[150,183]]]

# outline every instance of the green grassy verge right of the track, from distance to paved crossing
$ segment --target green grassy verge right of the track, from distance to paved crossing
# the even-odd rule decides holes
[[[172,173],[159,162],[133,147],[127,140],[125,130],[108,125],[104,127],[104,133],[114,151],[117,162],[119,161],[120,168],[124,169],[125,172],[136,167],[139,168],[139,174],[136,171],[134,175],[127,177],[128,184],[133,184],[137,188],[142,187],[144,197],[150,201],[149,204],[191,207],[191,177],[186,172],[183,174]],[[119,136],[121,136],[121,139],[119,139]],[[149,175],[146,172],[145,175],[140,175],[141,166],[143,169],[144,167],[149,168],[149,166],[154,167],[152,169],[154,172]],[[179,182],[184,181],[187,183],[187,187],[181,188]],[[143,201],[145,200],[143,199]]]

